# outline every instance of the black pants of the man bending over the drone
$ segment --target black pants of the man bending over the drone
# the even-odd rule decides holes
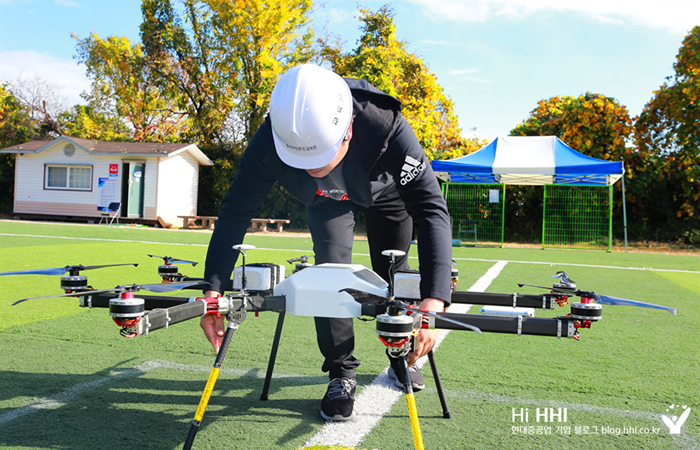
[[[402,250],[406,256],[397,259],[397,268],[408,268],[408,250],[413,236],[413,221],[406,207],[393,192],[381,197],[370,208],[361,208],[350,201],[323,199],[306,208],[309,229],[314,243],[316,264],[352,262],[354,226],[358,211],[367,221],[372,270],[388,281],[389,258],[384,250]],[[322,370],[330,379],[354,377],[360,362],[353,356],[355,333],[353,319],[317,317],[316,339],[325,360]]]

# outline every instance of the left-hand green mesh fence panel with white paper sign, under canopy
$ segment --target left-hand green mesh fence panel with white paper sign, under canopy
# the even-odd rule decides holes
[[[454,245],[503,247],[505,185],[444,183]]]

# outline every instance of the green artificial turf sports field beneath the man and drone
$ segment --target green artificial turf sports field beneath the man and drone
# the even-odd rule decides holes
[[[201,261],[180,266],[201,276],[209,236],[0,221],[0,271],[138,263],[83,275],[99,288],[158,283],[161,261],[150,253]],[[307,238],[252,234],[246,243],[258,247],[248,262],[288,271],[287,259],[312,254]],[[356,241],[354,253],[355,263],[369,265],[365,241]],[[451,332],[436,359],[453,417],[442,418],[427,366],[428,387],[416,394],[427,449],[699,448],[700,257],[514,248],[456,248],[453,256],[460,290],[508,261],[489,292],[537,293],[517,283],[549,284],[566,270],[582,289],[673,306],[678,315],[605,306],[580,341]],[[80,308],[74,298],[10,306],[61,293],[59,278],[0,277],[0,447],[182,448],[215,356],[198,321],[124,339],[105,309]],[[270,399],[259,400],[276,321],[276,313],[250,314],[235,333],[195,448],[297,449],[324,426],[319,406],[327,378],[312,318],[287,315]],[[387,359],[373,322],[356,321],[356,335],[361,391]],[[661,421],[678,411],[670,405],[691,408],[680,435]],[[538,423],[538,408],[566,408],[567,421]],[[359,448],[413,448],[403,400]]]

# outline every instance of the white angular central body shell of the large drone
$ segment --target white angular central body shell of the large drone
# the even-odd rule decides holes
[[[295,316],[352,318],[362,305],[341,289],[356,289],[387,297],[389,286],[375,272],[359,264],[319,264],[307,267],[275,286],[286,297],[287,312]]]

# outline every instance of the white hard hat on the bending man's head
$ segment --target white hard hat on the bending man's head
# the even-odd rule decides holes
[[[323,67],[293,67],[272,90],[270,119],[277,154],[285,164],[323,167],[333,160],[350,127],[350,88]]]

